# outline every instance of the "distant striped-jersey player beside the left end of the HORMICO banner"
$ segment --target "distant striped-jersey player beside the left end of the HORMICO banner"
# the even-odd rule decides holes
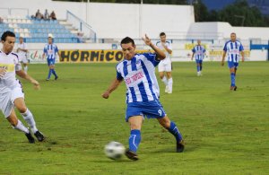
[[[58,54],[59,57],[59,50],[56,46],[56,44],[53,43],[53,35],[51,33],[48,34],[48,44],[45,45],[43,50],[43,59],[46,56],[48,61],[48,78],[47,81],[50,79],[50,75],[54,74],[55,80],[58,79],[58,76],[55,71],[55,60],[56,60],[56,54]]]

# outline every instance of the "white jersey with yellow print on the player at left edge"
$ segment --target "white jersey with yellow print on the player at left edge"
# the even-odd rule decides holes
[[[16,87],[22,87],[21,83],[16,79],[16,72],[22,70],[19,57],[13,52],[5,54],[0,51],[0,67],[6,70],[6,73],[0,78],[0,95],[10,92]]]

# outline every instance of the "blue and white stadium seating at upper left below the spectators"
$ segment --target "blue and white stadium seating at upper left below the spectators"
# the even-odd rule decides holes
[[[54,41],[58,43],[81,42],[77,33],[72,32],[65,24],[56,20],[37,20],[29,16],[8,15],[0,23],[0,32],[13,31],[17,38],[23,36],[27,43],[47,42],[48,33],[52,33],[55,36]]]

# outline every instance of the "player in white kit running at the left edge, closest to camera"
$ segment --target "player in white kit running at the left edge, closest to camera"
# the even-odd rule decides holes
[[[12,31],[5,31],[1,37],[1,42],[3,48],[0,51],[0,109],[13,128],[22,131],[30,143],[35,143],[30,131],[41,142],[44,140],[44,136],[39,132],[33,115],[25,105],[22,83],[16,79],[16,74],[30,81],[37,89],[39,89],[39,82],[30,77],[29,74],[25,74],[18,55],[12,52],[15,34]],[[14,108],[20,111],[22,117],[30,126],[30,130],[24,127],[20,119],[17,118]]]

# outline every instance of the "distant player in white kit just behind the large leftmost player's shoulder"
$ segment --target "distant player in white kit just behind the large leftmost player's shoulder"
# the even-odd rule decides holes
[[[17,53],[19,55],[20,62],[22,62],[23,70],[25,73],[27,73],[29,65],[29,60],[27,59],[27,52],[27,44],[23,42],[23,37],[20,36],[20,42],[17,45]]]

